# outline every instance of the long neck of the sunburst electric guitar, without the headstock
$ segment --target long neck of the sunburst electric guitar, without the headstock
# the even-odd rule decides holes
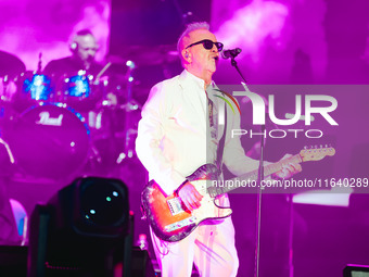
[[[293,156],[290,156],[290,158],[287,158],[284,160],[281,160],[277,163],[273,163],[273,164],[268,164],[266,166],[264,166],[264,176],[269,176],[276,172],[279,172],[283,168],[283,165],[285,164],[289,164],[289,163],[302,163],[303,160],[301,158],[300,154],[296,154],[296,155],[293,155]],[[230,180],[227,180],[229,182],[232,182],[232,184],[237,184],[237,182],[241,182],[241,181],[253,181],[253,180],[257,180],[257,176],[258,176],[258,169],[255,169],[255,171],[252,171],[250,173],[246,173],[244,175],[241,175],[239,177],[236,177],[236,178],[232,178]],[[219,194],[222,194],[222,193],[227,193],[233,189],[238,189],[239,187],[237,186],[227,186],[227,181],[225,180],[224,184],[225,186],[222,187],[209,187],[208,189],[211,190],[209,193],[212,196],[219,196]]]

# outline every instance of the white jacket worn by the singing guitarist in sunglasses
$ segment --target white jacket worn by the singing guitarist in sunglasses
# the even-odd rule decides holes
[[[218,128],[218,138],[212,139],[204,84],[203,79],[183,71],[155,85],[142,109],[136,152],[150,179],[168,196],[186,180],[186,176],[216,159],[217,140],[224,126]],[[215,106],[225,104],[212,93],[208,98]],[[240,128],[240,116],[233,115],[228,108],[227,125],[224,152],[227,168],[234,175],[256,169],[258,162],[244,154],[239,137],[230,136],[232,128]]]

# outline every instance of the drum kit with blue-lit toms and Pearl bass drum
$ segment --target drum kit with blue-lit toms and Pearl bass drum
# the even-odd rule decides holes
[[[55,80],[0,51],[0,143],[8,146],[12,174],[69,179],[135,158],[141,104],[132,98],[135,64],[124,66],[125,74],[110,77],[78,72]]]

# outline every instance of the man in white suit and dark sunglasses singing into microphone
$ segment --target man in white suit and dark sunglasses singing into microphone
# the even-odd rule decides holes
[[[158,83],[142,110],[136,141],[137,154],[163,193],[176,191],[190,211],[199,209],[203,196],[186,179],[206,163],[216,163],[224,126],[217,124],[222,100],[215,97],[212,76],[217,68],[222,43],[207,23],[192,23],[178,40],[184,71]],[[227,130],[239,128],[240,116],[227,109]],[[228,134],[229,133],[229,134]],[[244,154],[239,138],[227,131],[224,164],[234,175],[256,169],[258,161]],[[288,177],[301,166],[288,165],[279,176]],[[217,204],[228,206],[227,194]],[[191,276],[194,263],[201,276],[236,276],[239,266],[231,217],[205,221],[178,242],[166,242],[152,232],[162,276]]]

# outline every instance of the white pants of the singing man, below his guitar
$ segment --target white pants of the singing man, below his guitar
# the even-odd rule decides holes
[[[153,231],[151,237],[163,277],[190,277],[193,263],[202,277],[237,275],[239,259],[231,217],[201,224],[178,242],[163,241]]]

